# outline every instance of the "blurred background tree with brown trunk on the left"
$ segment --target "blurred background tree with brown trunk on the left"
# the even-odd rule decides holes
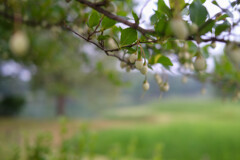
[[[14,61],[27,69],[31,75],[30,80],[26,82],[27,89],[33,92],[44,91],[49,97],[54,98],[57,115],[64,114],[68,97],[78,98],[84,88],[89,90],[101,88],[100,97],[114,96],[108,91],[114,92],[116,90],[114,88],[122,85],[117,72],[113,69],[114,62],[109,63],[100,55],[94,55],[92,58],[91,52],[98,51],[92,46],[86,46],[76,36],[55,25],[60,19],[68,16],[65,13],[67,8],[64,2],[51,0],[41,2],[1,0],[0,2],[0,60],[2,64]],[[75,8],[74,10],[80,9],[78,6],[72,7]],[[43,10],[45,11],[42,12]],[[68,18],[74,18],[74,15]],[[19,19],[34,20],[24,24]],[[24,53],[11,48],[13,37],[17,39],[16,33],[27,35],[25,45],[28,49]],[[24,37],[18,39],[20,39],[18,43],[26,40]],[[103,67],[103,63],[108,63],[108,65]],[[14,82],[7,79],[1,74],[1,84],[6,90],[10,90],[12,85],[17,85],[15,82],[21,81],[18,77],[11,77]],[[112,88],[109,89],[109,86]],[[20,110],[20,106],[23,106],[25,102],[26,94],[23,92],[25,89],[14,88],[13,90],[18,90],[16,92],[20,94],[13,93],[12,97],[7,97],[3,88],[0,89],[3,97],[1,114],[5,114],[5,108],[12,110],[11,112]],[[94,93],[91,95],[93,99],[98,96]],[[9,115],[8,112],[6,111],[6,115]]]

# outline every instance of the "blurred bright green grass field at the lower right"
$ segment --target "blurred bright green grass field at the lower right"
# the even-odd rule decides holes
[[[104,154],[112,144],[125,148],[134,139],[135,154],[146,159],[152,157],[158,144],[162,146],[165,160],[240,159],[239,104],[175,99],[150,105],[152,107],[147,110],[139,108],[142,114],[135,117],[137,123],[131,127],[100,132],[97,152]],[[130,110],[134,113],[134,109]],[[117,113],[114,114],[118,120],[126,118]],[[130,119],[134,117],[131,113],[127,115]],[[127,151],[122,152],[126,154]]]

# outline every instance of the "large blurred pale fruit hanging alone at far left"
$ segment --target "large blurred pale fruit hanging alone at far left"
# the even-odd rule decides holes
[[[9,41],[11,51],[17,56],[26,54],[29,48],[29,40],[27,35],[22,31],[15,32]]]

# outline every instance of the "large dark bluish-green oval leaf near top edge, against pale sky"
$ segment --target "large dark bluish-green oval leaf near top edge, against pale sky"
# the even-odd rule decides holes
[[[207,9],[202,5],[200,0],[195,0],[189,8],[190,19],[193,23],[196,23],[198,26],[203,24],[208,16]]]

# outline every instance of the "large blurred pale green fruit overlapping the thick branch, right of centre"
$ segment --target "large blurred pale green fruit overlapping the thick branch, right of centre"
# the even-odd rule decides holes
[[[180,19],[180,18],[175,18],[170,21],[170,26],[171,29],[174,33],[174,35],[182,40],[187,39],[189,32],[188,32],[188,27],[186,23]]]

